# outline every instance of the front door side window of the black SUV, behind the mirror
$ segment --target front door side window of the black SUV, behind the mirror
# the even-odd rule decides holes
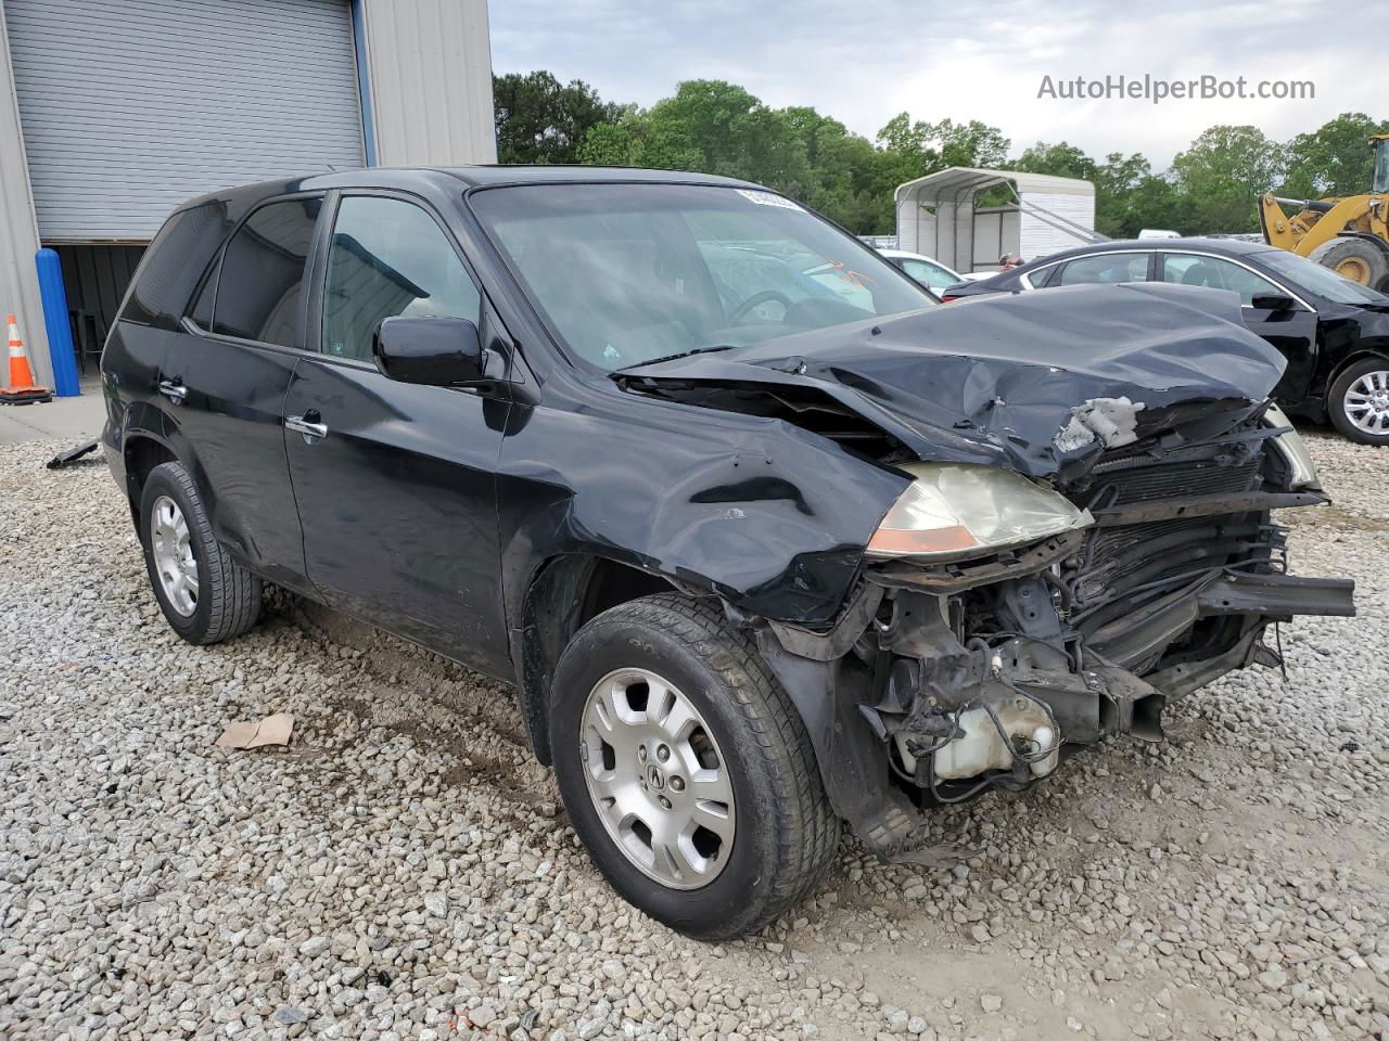
[[[325,354],[371,361],[382,319],[481,321],[482,297],[435,219],[399,198],[347,196],[328,250]]]

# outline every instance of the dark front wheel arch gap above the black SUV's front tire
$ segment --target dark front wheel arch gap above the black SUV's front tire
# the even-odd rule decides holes
[[[511,630],[519,705],[536,758],[550,765],[550,682],[574,634],[618,604],[653,593],[690,593],[674,580],[631,564],[586,552],[550,557],[535,569]]]

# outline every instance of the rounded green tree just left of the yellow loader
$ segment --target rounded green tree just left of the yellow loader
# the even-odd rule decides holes
[[[1279,182],[1283,165],[1282,147],[1257,126],[1211,126],[1176,154],[1170,174],[1195,230],[1254,232],[1257,200]]]

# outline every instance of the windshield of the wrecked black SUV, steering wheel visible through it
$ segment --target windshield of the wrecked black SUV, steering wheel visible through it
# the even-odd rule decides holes
[[[608,371],[936,303],[770,192],[546,185],[471,203],[569,350]]]

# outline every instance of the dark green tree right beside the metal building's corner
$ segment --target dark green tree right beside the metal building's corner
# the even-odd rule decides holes
[[[621,114],[583,81],[544,69],[493,76],[492,99],[499,162],[578,162],[588,132]]]

